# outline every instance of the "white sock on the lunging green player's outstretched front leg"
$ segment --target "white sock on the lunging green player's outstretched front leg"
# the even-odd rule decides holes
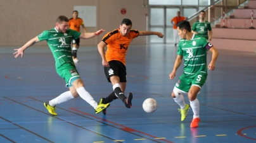
[[[77,93],[83,100],[86,100],[87,103],[93,106],[94,109],[97,108],[98,103],[93,99],[93,96],[91,96],[91,94],[88,93],[84,87],[77,88]]]

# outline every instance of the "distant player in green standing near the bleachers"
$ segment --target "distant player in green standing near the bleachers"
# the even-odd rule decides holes
[[[208,41],[212,40],[212,27],[210,26],[210,23],[205,20],[205,11],[200,11],[199,20],[193,24],[192,32],[202,35],[202,37],[205,37]]]

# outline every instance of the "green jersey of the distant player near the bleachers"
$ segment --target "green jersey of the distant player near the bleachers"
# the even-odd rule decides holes
[[[208,21],[205,20],[204,22],[200,22],[198,20],[193,24],[192,30],[208,40],[208,30],[212,31],[212,27]]]

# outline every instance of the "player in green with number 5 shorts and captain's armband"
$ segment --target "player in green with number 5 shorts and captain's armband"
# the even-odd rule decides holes
[[[184,121],[188,110],[191,106],[193,110],[193,120],[190,127],[198,127],[200,122],[199,116],[199,101],[196,96],[200,92],[203,84],[207,79],[207,51],[212,52],[212,60],[208,64],[208,70],[215,69],[215,61],[217,60],[219,52],[215,47],[207,42],[207,39],[195,35],[191,32],[191,26],[188,21],[184,20],[177,24],[178,35],[181,37],[177,51],[177,59],[174,64],[174,69],[170,73],[170,79],[174,79],[176,71],[181,66],[184,57],[184,72],[179,77],[174,90],[172,91],[172,98],[181,106],[181,121]],[[184,101],[181,93],[188,93],[190,106]]]

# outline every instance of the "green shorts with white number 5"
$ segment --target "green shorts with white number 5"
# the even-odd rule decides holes
[[[207,75],[207,73],[200,72],[195,77],[189,78],[182,74],[179,77],[179,80],[177,81],[175,87],[180,89],[184,93],[188,93],[191,86],[198,86],[199,88],[202,88],[203,84],[205,84],[205,81],[207,79]]]

